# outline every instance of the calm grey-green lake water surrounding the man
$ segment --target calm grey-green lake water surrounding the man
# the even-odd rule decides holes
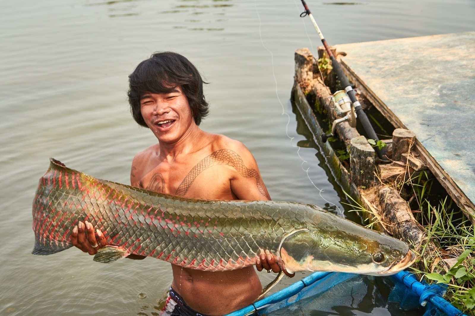
[[[330,44],[475,26],[473,0],[308,5]],[[105,265],[76,249],[30,253],[31,202],[49,157],[128,183],[133,155],[156,141],[134,123],[126,100],[128,74],[155,51],[178,52],[197,66],[211,105],[201,127],[250,149],[272,199],[326,203],[342,214],[347,202],[317,150],[296,147],[305,137],[289,101],[294,51],[320,45],[302,11],[298,0],[0,2],[0,315],[158,312],[171,282],[168,263]]]

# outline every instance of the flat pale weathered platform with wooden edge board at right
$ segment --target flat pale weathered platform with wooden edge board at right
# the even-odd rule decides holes
[[[475,223],[475,32],[337,45],[343,70]]]

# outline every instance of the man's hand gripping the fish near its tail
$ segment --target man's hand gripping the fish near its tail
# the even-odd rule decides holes
[[[92,224],[85,221],[74,226],[71,243],[85,253],[96,254],[99,249],[107,245],[107,240],[99,229],[94,232]]]

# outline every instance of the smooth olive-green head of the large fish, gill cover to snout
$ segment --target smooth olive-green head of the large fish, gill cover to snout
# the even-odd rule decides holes
[[[343,218],[337,222],[333,223],[339,224],[336,226],[320,225],[289,234],[280,247],[286,270],[384,276],[404,270],[415,261],[406,243]]]

